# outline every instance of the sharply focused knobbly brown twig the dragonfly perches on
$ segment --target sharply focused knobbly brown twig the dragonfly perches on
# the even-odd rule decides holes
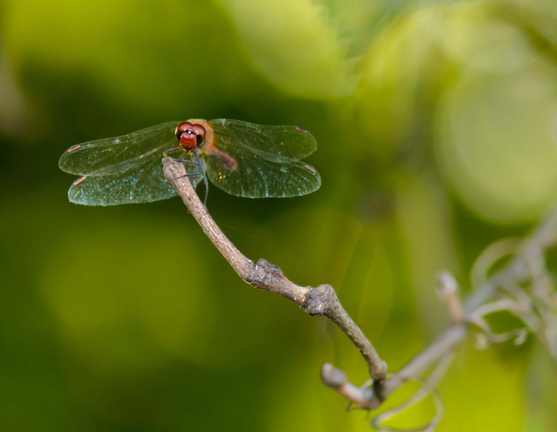
[[[184,204],[214,246],[244,281],[256,288],[266,289],[288,298],[311,316],[324,315],[333,320],[364,356],[368,363],[370,376],[378,382],[384,379],[387,374],[387,364],[380,359],[371,342],[344,310],[333,287],[328,284],[315,288],[300,287],[289,281],[280,268],[273,266],[265,259],[260,259],[257,264],[253,264],[251,259],[243,256],[226,238],[226,235],[211,218],[211,215],[199,200],[188,177],[184,177],[187,173],[183,164],[175,163],[172,158],[164,158],[163,165],[164,176],[176,188]],[[377,402],[380,403],[380,401]]]

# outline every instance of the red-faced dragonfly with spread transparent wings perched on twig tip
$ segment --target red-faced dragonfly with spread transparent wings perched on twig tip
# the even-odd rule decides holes
[[[174,152],[181,152],[174,160],[186,164],[194,188],[204,181],[206,201],[208,181],[237,197],[296,197],[321,185],[317,170],[300,161],[316,148],[314,136],[300,126],[190,119],[71,146],[59,165],[79,175],[68,191],[76,204],[147,203],[178,195],[160,168]]]

